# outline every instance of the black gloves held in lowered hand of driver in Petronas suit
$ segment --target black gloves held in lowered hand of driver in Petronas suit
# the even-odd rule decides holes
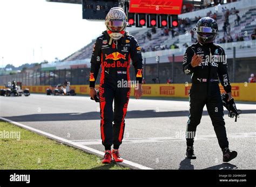
[[[228,97],[229,96],[227,93],[221,94],[223,106],[225,106],[226,109],[228,110],[228,117],[235,117],[235,122],[237,122],[237,118],[239,118],[239,114],[242,113],[242,111],[237,110],[237,106],[235,106],[234,103],[234,98],[231,98],[229,101],[227,101]]]

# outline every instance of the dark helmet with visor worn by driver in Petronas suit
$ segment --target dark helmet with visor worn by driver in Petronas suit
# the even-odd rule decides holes
[[[201,18],[198,20],[194,31],[197,32],[197,39],[200,43],[211,43],[219,32],[217,21],[209,17]]]

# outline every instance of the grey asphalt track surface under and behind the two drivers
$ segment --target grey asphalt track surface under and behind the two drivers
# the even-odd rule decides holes
[[[223,163],[222,153],[204,108],[197,128],[196,160],[185,158],[188,101],[130,99],[123,144],[124,159],[153,169],[256,169],[256,105],[239,103],[238,122],[225,112],[230,149],[238,157]],[[104,152],[99,104],[85,96],[0,97],[0,116]]]

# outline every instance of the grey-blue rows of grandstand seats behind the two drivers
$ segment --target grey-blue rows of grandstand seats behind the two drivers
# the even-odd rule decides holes
[[[247,35],[248,38],[251,37],[251,34],[254,30],[254,28],[256,28],[256,6],[254,7],[250,7],[250,8],[242,8],[242,9],[238,9],[239,13],[238,15],[240,16],[241,20],[240,20],[240,25],[235,25],[235,19],[236,16],[234,15],[230,15],[229,16],[229,23],[231,26],[231,32],[230,35],[232,36],[233,40],[235,40],[235,38],[237,36],[243,36],[244,39],[246,40],[245,37],[245,31],[247,31]],[[212,12],[214,13],[214,12]],[[206,15],[205,15],[206,16]],[[215,40],[215,42],[219,42],[221,38],[224,37],[224,31],[223,31],[223,25],[224,25],[224,16],[223,16],[223,12],[217,12],[217,22],[219,25],[219,34],[217,35],[217,38]],[[185,30],[188,31],[188,36],[190,37],[190,31],[192,30],[193,27],[196,26],[196,22],[197,20],[191,20],[191,25],[188,25],[185,27]],[[149,51],[152,49],[149,49],[149,47],[151,46],[151,48],[155,48],[155,50],[160,50],[161,47],[166,46],[169,48],[170,45],[172,44],[177,44],[177,46],[179,46],[179,48],[183,48],[183,44],[184,44],[184,40],[180,40],[180,38],[182,38],[182,36],[185,37],[185,33],[184,32],[179,32],[179,36],[176,36],[174,38],[172,38],[171,36],[171,32],[169,32],[169,35],[167,36],[161,36],[161,28],[157,28],[156,29],[156,34],[151,33],[152,37],[151,40],[149,40],[146,37],[147,32],[151,33],[151,28],[142,28],[138,31],[133,31],[131,32],[132,35],[134,35],[135,38],[137,38],[140,47],[142,47],[143,49],[145,49],[145,51]],[[145,35],[145,40],[143,35]],[[251,38],[250,38],[251,39]],[[70,56],[66,57],[64,60],[62,61],[73,61],[73,60],[83,60],[83,59],[87,59],[91,57],[91,53],[92,53],[92,46],[94,44],[95,40],[92,40],[92,42],[90,44],[88,44],[87,46],[83,47],[82,49],[80,49],[79,51],[71,54]],[[186,42],[187,43],[187,42]],[[192,43],[188,42],[187,45],[190,45]]]

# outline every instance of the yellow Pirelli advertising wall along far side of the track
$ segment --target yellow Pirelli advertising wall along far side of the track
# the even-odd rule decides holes
[[[232,83],[232,96],[235,100],[256,102],[256,83]],[[188,98],[188,91],[191,84],[143,84],[144,97],[180,97]],[[4,87],[0,87],[4,88]],[[22,86],[22,89],[29,88],[31,93],[46,93],[49,86]],[[96,89],[99,85],[96,85]],[[71,85],[77,94],[88,95],[89,85]],[[220,85],[220,91],[224,92]],[[131,89],[131,96],[134,95],[134,88]]]

